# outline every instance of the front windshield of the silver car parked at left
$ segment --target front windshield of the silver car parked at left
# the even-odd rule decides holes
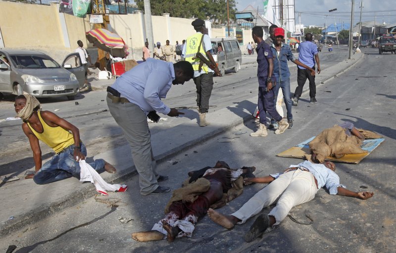
[[[53,69],[60,68],[59,64],[40,55],[10,55],[15,67],[20,69]]]

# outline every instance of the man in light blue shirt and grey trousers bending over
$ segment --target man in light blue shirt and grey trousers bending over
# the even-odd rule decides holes
[[[173,64],[148,58],[107,88],[107,105],[131,146],[142,195],[161,194],[170,190],[169,187],[158,185],[159,181],[168,179],[168,176],[156,172],[147,117],[156,121],[159,116],[155,112],[170,117],[184,114],[166,106],[161,98],[166,97],[172,84],[184,84],[193,76],[193,66],[187,61]]]

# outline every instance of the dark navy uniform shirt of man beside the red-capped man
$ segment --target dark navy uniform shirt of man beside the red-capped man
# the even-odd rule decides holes
[[[267,84],[268,77],[268,59],[272,59],[272,50],[267,43],[261,41],[257,47],[257,78],[258,78],[258,86],[264,87]]]

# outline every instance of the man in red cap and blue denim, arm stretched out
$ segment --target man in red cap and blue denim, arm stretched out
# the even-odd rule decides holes
[[[290,94],[290,71],[288,61],[301,66],[310,71],[312,76],[315,76],[315,71],[301,63],[293,55],[292,49],[288,44],[283,43],[285,30],[283,28],[274,29],[275,40],[271,44],[272,54],[274,56],[274,77],[276,78],[277,85],[275,86],[275,104],[278,97],[279,89],[282,88],[284,101],[286,104],[287,118],[289,129],[293,127],[293,114],[292,114],[292,98]],[[271,119],[271,124],[275,127],[277,123]],[[277,127],[277,126],[276,126]]]

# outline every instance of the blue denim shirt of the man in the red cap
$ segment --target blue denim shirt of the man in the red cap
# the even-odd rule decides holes
[[[274,77],[276,82],[280,83],[290,77],[288,61],[294,61],[296,57],[293,55],[290,46],[285,43],[282,43],[279,55],[274,44],[271,45],[271,49],[274,55]]]

